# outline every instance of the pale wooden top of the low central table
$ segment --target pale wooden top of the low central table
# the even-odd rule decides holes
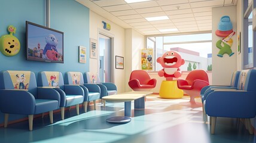
[[[132,91],[132,92],[124,92],[121,94],[115,94],[115,95],[109,95],[106,97],[102,97],[102,100],[126,102],[126,101],[137,100],[138,98],[142,98],[142,97],[145,97],[150,94],[153,94],[153,92]]]

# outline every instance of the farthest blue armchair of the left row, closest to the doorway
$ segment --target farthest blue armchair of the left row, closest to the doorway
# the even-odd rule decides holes
[[[112,82],[100,82],[99,74],[86,72],[84,73],[84,81],[86,83],[96,83],[100,87],[100,99],[107,95],[117,94],[117,86]],[[101,100],[101,102],[105,107],[105,101]]]

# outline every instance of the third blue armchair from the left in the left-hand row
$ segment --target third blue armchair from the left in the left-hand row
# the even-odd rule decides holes
[[[94,108],[96,109],[96,100],[100,98],[100,88],[95,84],[84,83],[84,77],[81,72],[69,71],[65,73],[65,84],[67,85],[80,85],[84,89],[84,111],[87,111],[87,104],[93,101]]]

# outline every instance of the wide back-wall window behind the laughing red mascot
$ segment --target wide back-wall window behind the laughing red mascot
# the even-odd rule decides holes
[[[212,67],[212,33],[147,37],[147,48],[154,49],[154,71],[163,69],[156,59],[170,50],[178,51],[184,58],[182,71]]]

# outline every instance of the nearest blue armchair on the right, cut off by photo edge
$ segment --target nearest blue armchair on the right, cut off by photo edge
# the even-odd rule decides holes
[[[242,118],[251,127],[256,115],[256,70],[242,70],[237,90],[214,89],[205,99],[205,112],[210,116],[211,133],[215,133],[217,117]],[[253,133],[249,129],[249,133]]]

